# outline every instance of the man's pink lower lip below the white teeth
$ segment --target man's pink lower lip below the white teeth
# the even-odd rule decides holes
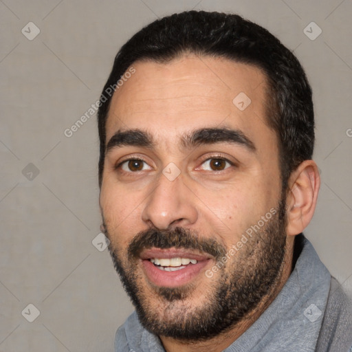
[[[210,259],[199,261],[197,264],[188,264],[184,269],[175,272],[166,272],[157,268],[151,261],[143,260],[142,265],[144,272],[154,285],[162,287],[177,287],[190,283],[208,265]]]

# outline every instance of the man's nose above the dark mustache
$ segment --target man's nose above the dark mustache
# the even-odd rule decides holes
[[[166,230],[172,226],[187,227],[197,221],[195,197],[179,175],[170,181],[164,174],[157,179],[157,186],[146,199],[142,221],[150,227]]]

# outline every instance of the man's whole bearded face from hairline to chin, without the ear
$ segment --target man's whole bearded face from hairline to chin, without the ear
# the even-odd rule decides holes
[[[109,250],[147,329],[214,336],[282,270],[285,201],[265,76],[196,56],[133,67],[106,124]]]

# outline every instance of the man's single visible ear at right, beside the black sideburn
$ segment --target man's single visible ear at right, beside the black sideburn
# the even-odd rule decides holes
[[[319,188],[318,166],[313,160],[305,160],[289,177],[287,235],[300,234],[307,227],[316,209]]]

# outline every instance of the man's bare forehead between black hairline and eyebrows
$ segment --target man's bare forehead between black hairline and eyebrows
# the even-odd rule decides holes
[[[257,67],[192,55],[170,63],[140,61],[133,67],[135,73],[111,100],[107,142],[124,129],[145,129],[170,140],[185,131],[219,126],[239,129],[254,140],[265,134],[267,142],[276,138],[265,122],[267,83]]]

